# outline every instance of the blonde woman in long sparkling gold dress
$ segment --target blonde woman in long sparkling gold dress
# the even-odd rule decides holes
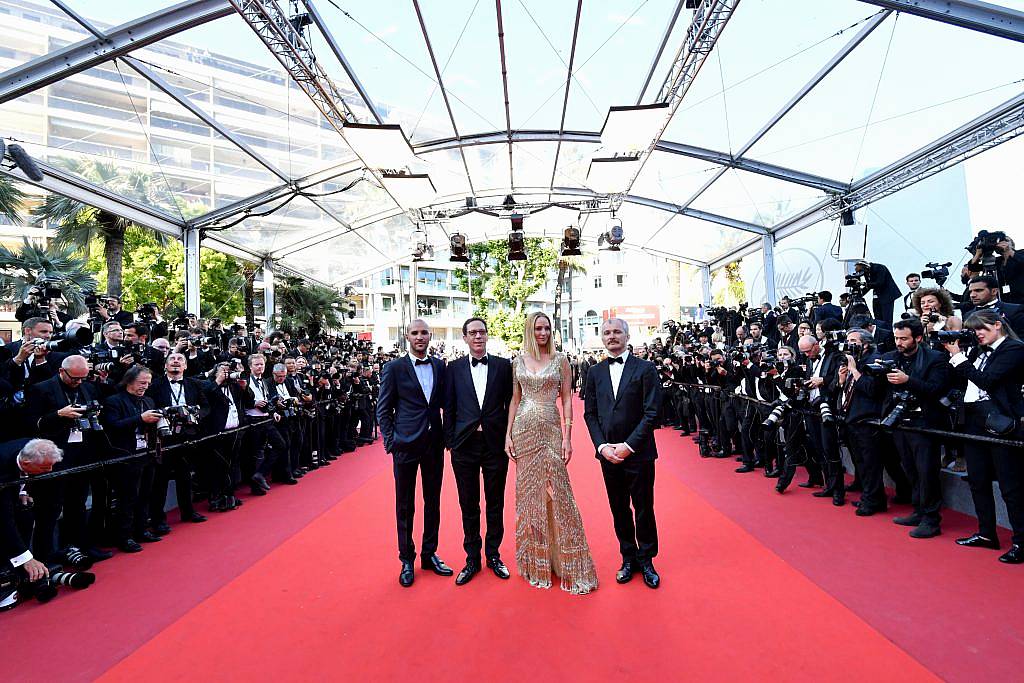
[[[558,401],[561,401],[561,417]],[[572,458],[572,373],[555,351],[551,318],[530,313],[512,364],[505,451],[516,465],[516,567],[537,588],[590,593],[597,572],[565,466]]]

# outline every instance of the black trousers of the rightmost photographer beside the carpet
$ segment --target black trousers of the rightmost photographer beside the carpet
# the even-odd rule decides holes
[[[985,418],[993,410],[995,407],[987,400],[966,403],[967,432],[990,436],[985,431]],[[988,539],[997,538],[992,482],[998,481],[1010,526],[1014,530],[1013,542],[1024,544],[1024,458],[1006,446],[974,441],[965,442],[964,455],[974,511],[978,515],[978,532]]]

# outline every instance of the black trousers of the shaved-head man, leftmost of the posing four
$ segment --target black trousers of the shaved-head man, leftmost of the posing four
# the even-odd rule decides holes
[[[440,441],[434,441],[429,436],[423,441],[420,447],[413,444],[409,452],[395,454],[395,518],[398,526],[398,559],[402,562],[412,562],[416,559],[413,519],[416,516],[417,471],[423,475],[423,547],[420,552],[423,557],[429,557],[437,552],[437,533],[441,525],[444,449]]]

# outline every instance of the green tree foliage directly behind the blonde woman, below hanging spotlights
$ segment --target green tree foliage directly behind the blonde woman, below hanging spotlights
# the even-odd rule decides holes
[[[551,240],[527,238],[525,261],[509,261],[508,255],[507,240],[469,246],[473,314],[487,322],[492,337],[501,338],[509,348],[519,348],[526,300],[548,281],[558,262],[558,249]],[[455,271],[458,289],[469,289],[466,281],[465,270]]]

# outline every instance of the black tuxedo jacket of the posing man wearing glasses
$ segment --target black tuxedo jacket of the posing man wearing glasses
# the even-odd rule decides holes
[[[477,427],[483,427],[487,451],[502,453],[512,401],[512,364],[487,354],[487,385],[482,408],[476,398],[468,355],[449,364],[444,385],[444,442],[447,447],[458,449]]]

